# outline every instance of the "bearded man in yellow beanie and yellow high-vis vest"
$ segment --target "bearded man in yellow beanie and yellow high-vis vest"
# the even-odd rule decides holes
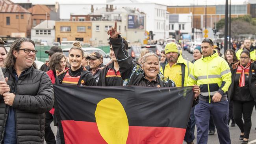
[[[190,70],[193,64],[186,59],[183,59],[179,53],[177,44],[170,42],[165,46],[166,60],[161,64],[160,72],[169,79],[172,79],[177,87],[184,87],[187,85],[187,78],[190,74]],[[193,144],[195,139],[194,133],[190,129],[190,122],[187,125],[186,134],[184,140],[188,144]]]

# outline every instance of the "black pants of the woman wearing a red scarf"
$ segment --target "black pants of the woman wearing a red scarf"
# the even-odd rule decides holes
[[[233,101],[233,116],[235,122],[241,133],[245,133],[244,138],[249,138],[250,135],[250,128],[252,127],[252,110],[254,107],[254,101],[249,102],[239,102]],[[242,120],[243,116],[243,120]]]

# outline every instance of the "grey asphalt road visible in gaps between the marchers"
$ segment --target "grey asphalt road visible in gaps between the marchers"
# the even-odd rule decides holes
[[[221,53],[223,54],[223,49],[221,50]],[[184,59],[187,59],[189,61],[193,60],[193,55],[189,54],[187,51],[182,52],[182,56]],[[54,134],[56,135],[56,127],[53,126],[53,124],[51,124],[52,130],[54,132]],[[249,138],[249,143],[248,144],[256,144],[256,111],[255,109],[253,110],[252,113],[252,128],[250,130],[250,138]],[[241,144],[241,141],[239,140],[239,135],[240,135],[240,130],[238,126],[235,127],[229,127],[230,128],[230,138],[231,138],[231,142],[232,144]],[[197,135],[196,133],[197,129],[195,129],[195,137]],[[195,138],[194,142],[197,142],[197,137]],[[46,144],[46,142],[45,142]],[[186,144],[186,142],[183,142],[183,144]],[[211,135],[208,137],[208,144],[219,144],[219,139],[218,139],[218,135],[217,132],[215,133],[215,135]]]

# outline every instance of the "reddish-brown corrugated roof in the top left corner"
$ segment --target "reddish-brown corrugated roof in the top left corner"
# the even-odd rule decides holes
[[[0,0],[0,12],[2,13],[30,13],[28,10],[10,0]]]

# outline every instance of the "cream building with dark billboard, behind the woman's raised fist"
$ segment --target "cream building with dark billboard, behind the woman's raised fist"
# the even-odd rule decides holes
[[[108,44],[109,36],[107,35],[107,31],[109,28],[114,27],[115,21],[117,21],[117,31],[121,32],[123,38],[130,41],[130,43],[143,43],[145,33],[145,15],[139,13],[139,11],[128,7],[118,8],[111,12],[98,9],[94,13],[90,13],[90,15],[102,15],[102,19],[104,19],[92,20],[91,41],[93,45]],[[143,24],[140,26],[138,25],[137,28],[129,28],[134,26],[134,23],[132,25],[128,24],[129,17],[135,18],[135,16],[140,17],[143,20]]]

